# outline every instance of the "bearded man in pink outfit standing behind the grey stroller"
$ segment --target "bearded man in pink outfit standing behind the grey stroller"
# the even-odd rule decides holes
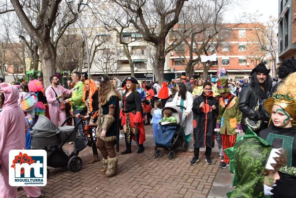
[[[63,86],[59,85],[59,79],[56,76],[50,77],[51,86],[47,87],[45,91],[50,120],[59,126],[66,120],[65,110],[60,110],[60,102],[63,101],[63,95],[71,94],[71,90],[65,89]],[[67,125],[67,123],[65,124]]]

